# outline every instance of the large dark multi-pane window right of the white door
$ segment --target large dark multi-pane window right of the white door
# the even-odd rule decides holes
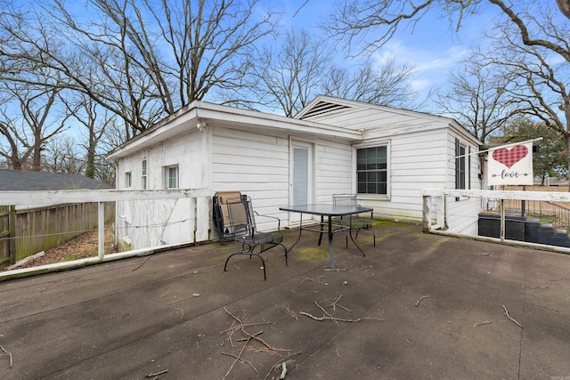
[[[356,150],[356,188],[359,194],[387,195],[387,146]]]

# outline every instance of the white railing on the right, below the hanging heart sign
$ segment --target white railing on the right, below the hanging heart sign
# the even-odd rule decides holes
[[[508,199],[536,200],[544,202],[570,202],[570,192],[554,191],[509,191],[509,190],[445,190],[424,189],[422,224],[424,232],[445,230],[449,215],[445,205],[446,198],[481,198],[494,199],[499,202],[501,218],[501,241],[505,239],[505,206]],[[436,206],[435,206],[436,205]],[[443,206],[442,206],[443,205]],[[443,231],[444,233],[444,231]]]

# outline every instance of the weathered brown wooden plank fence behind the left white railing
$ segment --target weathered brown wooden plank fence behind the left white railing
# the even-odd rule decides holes
[[[115,202],[105,202],[105,222],[114,218]],[[22,210],[0,206],[0,266],[60,246],[97,225],[94,202]]]

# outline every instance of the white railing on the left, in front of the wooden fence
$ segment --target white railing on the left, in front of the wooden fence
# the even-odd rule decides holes
[[[195,205],[189,214],[193,217],[195,241],[209,239],[210,217],[209,200],[211,190],[208,189],[179,189],[179,190],[50,190],[50,191],[3,191],[0,193],[0,203],[3,205],[57,205],[66,203],[98,203],[98,255],[85,259],[73,260],[64,263],[53,263],[33,268],[16,269],[0,272],[0,280],[21,277],[33,272],[61,271],[63,269],[84,266],[90,263],[101,263],[121,258],[143,255],[156,250],[177,247],[171,246],[145,247],[116,254],[105,255],[104,229],[105,215],[104,203],[116,201],[136,201],[155,199],[190,198]]]

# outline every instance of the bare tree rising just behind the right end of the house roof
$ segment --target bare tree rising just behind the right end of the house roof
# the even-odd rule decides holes
[[[512,102],[507,90],[511,77],[504,71],[477,61],[473,54],[452,72],[443,93],[436,95],[437,108],[450,114],[475,137],[487,142],[509,119],[522,111]]]

